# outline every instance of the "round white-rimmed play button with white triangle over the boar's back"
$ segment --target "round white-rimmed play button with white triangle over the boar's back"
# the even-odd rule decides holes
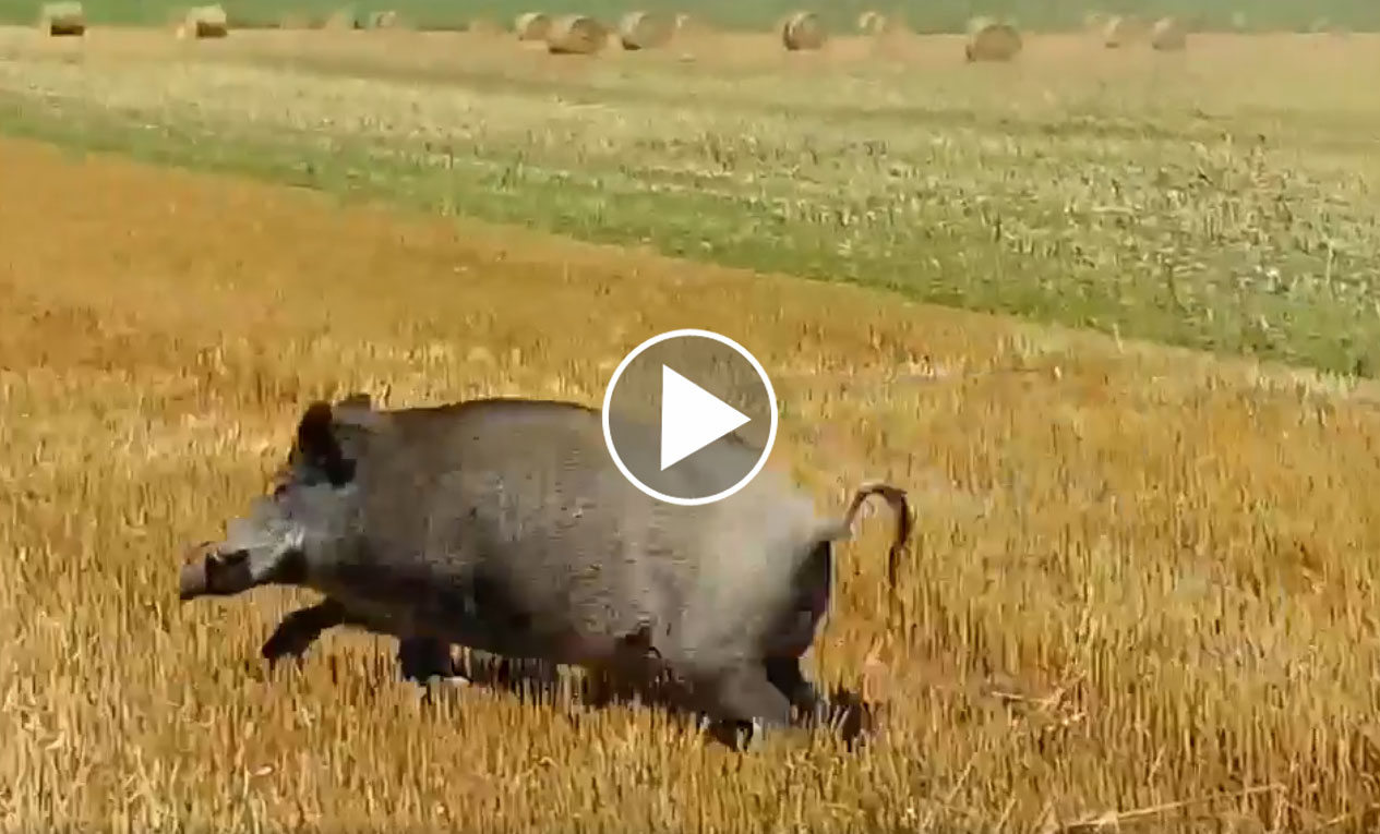
[[[629,353],[604,393],[604,441],[618,470],[656,499],[707,505],[745,487],[776,440],[776,391],[762,364],[715,332],[678,329]]]

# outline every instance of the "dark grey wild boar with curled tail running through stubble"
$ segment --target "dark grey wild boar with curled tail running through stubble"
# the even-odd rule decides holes
[[[722,463],[705,454],[716,447],[676,477],[702,478],[697,467]],[[821,706],[799,662],[828,608],[834,543],[871,495],[897,514],[894,583],[911,531],[896,487],[861,487],[842,518],[820,518],[770,470],[716,503],[671,505],[618,471],[596,409],[487,398],[378,411],[352,396],[306,408],[272,494],[184,567],[181,597],[310,587],[328,602],[302,615],[294,645],[356,623],[414,648],[633,681],[669,673],[709,718],[780,726],[792,707]]]

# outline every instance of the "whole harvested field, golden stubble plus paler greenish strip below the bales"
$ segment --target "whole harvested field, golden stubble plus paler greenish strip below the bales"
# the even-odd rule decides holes
[[[1031,33],[983,66],[962,36],[886,61],[850,34],[820,61],[774,32],[588,61],[384,40],[0,30],[6,132],[356,196],[0,139],[0,830],[1380,823],[1380,386],[878,288],[1053,287],[1108,331],[1351,363],[1326,339],[1380,320],[1380,130],[1343,81],[1373,37]],[[482,211],[512,225],[437,216]],[[753,245],[874,288],[707,263]],[[185,546],[264,489],[308,401],[598,404],[682,327],[765,364],[773,465],[821,509],[911,492],[898,612],[879,511],[810,658],[876,707],[862,750],[737,754],[569,691],[424,702],[357,631],[268,674],[309,594],[177,601]]]

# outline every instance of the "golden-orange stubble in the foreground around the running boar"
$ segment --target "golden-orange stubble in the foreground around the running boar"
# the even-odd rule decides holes
[[[1357,830],[1374,801],[1372,387],[18,141],[0,165],[15,830],[1036,830],[1190,800],[1159,830]],[[175,601],[308,398],[595,403],[676,327],[766,364],[777,463],[821,503],[912,491],[904,622],[874,521],[818,644],[880,704],[864,751],[422,706],[348,633],[265,678],[286,594]]]

